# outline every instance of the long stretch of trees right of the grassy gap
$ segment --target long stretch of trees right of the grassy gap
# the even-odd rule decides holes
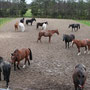
[[[90,0],[33,0],[30,8],[36,17],[90,19]]]

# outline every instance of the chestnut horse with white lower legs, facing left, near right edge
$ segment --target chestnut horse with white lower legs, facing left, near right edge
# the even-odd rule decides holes
[[[77,46],[77,48],[78,48],[78,55],[80,55],[81,54],[81,52],[80,52],[80,47],[85,47],[85,51],[84,51],[84,53],[86,53],[87,52],[87,39],[86,40],[73,40],[72,41],[72,46],[73,46],[73,44],[76,44],[76,46]]]

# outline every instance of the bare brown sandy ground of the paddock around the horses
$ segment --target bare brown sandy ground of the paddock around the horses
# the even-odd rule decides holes
[[[11,53],[15,49],[31,48],[33,60],[25,69],[14,71],[12,65],[10,88],[11,90],[74,90],[72,74],[75,65],[82,63],[87,68],[87,81],[84,90],[90,90],[90,55],[77,56],[77,48],[65,49],[62,41],[63,34],[75,34],[76,39],[90,39],[90,27],[81,24],[81,29],[72,32],[69,24],[77,23],[73,20],[63,19],[37,19],[33,25],[25,25],[26,31],[15,32],[14,23],[20,19],[0,27],[0,56],[5,60],[11,60]],[[42,37],[42,43],[37,43],[39,28],[36,23],[48,21],[49,30],[58,29],[60,35],[52,36],[51,44],[48,38]],[[24,60],[20,63],[23,65]],[[0,81],[0,88],[5,87],[5,81]]]

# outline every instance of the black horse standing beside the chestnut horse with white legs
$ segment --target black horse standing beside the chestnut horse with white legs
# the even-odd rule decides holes
[[[74,39],[75,39],[75,35],[64,34],[63,35],[63,41],[65,41],[65,48],[67,48],[67,44],[68,44],[68,48],[69,48],[69,42],[72,42],[72,40],[74,40]]]

